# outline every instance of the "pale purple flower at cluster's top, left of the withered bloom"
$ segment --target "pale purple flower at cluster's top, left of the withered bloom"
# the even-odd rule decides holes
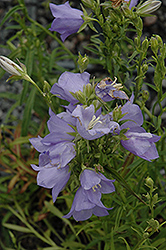
[[[83,91],[83,86],[89,83],[89,77],[90,74],[88,72],[83,72],[82,74],[64,72],[59,77],[58,83],[52,86],[51,93],[71,104],[75,104],[78,100],[70,92]]]

